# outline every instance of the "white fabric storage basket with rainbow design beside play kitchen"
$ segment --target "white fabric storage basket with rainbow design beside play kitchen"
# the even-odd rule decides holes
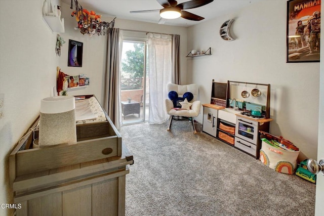
[[[276,148],[262,141],[260,160],[267,167],[281,173],[293,175],[297,167],[299,151]]]

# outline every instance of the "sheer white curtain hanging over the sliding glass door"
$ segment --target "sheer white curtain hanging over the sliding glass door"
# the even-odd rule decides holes
[[[148,33],[149,62],[149,123],[164,123],[169,118],[165,110],[167,84],[172,82],[172,35]]]

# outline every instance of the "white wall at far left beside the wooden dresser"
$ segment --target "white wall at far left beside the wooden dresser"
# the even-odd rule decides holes
[[[56,85],[56,34],[42,18],[43,1],[0,1],[0,203],[12,203],[8,155]],[[0,208],[0,215],[6,215]]]

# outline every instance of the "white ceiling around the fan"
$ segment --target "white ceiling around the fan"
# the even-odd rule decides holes
[[[179,0],[178,4],[188,1],[189,0]],[[198,16],[205,17],[204,20],[191,21],[180,17],[174,20],[166,20],[164,24],[188,27],[218,16],[223,16],[226,13],[231,13],[259,1],[265,0],[214,0],[214,2],[208,5],[186,10]],[[62,2],[68,5],[71,4],[71,0],[62,0]],[[160,19],[158,11],[135,14],[131,14],[130,11],[163,9],[163,7],[160,6],[155,0],[78,0],[78,3],[88,11],[93,10],[96,12],[96,14],[100,14],[105,17],[117,17],[118,19],[129,19],[151,23],[158,23]],[[74,0],[73,9],[75,9]]]

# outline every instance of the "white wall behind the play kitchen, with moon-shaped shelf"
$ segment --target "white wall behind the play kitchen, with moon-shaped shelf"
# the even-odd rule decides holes
[[[286,63],[286,15],[286,1],[262,1],[189,27],[188,50],[212,47],[212,55],[188,58],[188,82],[199,84],[202,103],[210,103],[212,79],[270,83],[270,133],[292,141],[302,158],[316,158],[319,63]],[[237,39],[225,41],[219,28],[230,18]]]

